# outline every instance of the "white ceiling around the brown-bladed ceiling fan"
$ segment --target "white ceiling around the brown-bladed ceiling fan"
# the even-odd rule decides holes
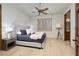
[[[39,3],[24,3],[24,4],[14,4],[14,5],[29,15],[33,15],[32,12],[37,11],[35,7],[39,7]],[[47,7],[49,9],[46,12],[48,12],[49,14],[53,14],[53,13],[63,12],[64,9],[66,9],[70,5],[71,5],[70,3],[42,3],[41,9]]]

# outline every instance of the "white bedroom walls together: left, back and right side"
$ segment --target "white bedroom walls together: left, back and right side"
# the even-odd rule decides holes
[[[72,9],[71,13],[72,13],[72,20],[73,20],[72,23],[73,23],[74,22],[74,14],[73,14],[74,4],[72,4],[71,7],[67,8],[65,10],[65,12],[68,9]],[[43,16],[43,17],[52,17],[52,32],[46,32],[46,34],[47,34],[48,38],[56,38],[57,37],[57,30],[56,30],[55,26],[57,23],[61,23],[62,26],[64,25],[64,14],[57,13],[57,14],[52,14],[51,16],[47,15],[47,16]],[[16,31],[17,25],[34,25],[34,29],[35,29],[35,31],[37,31],[37,17],[30,17],[29,18],[29,16],[26,13],[15,8],[15,6],[13,6],[11,4],[2,4],[2,26],[3,26],[2,27],[2,36],[3,36],[3,38],[6,36],[5,30],[4,30],[5,25],[14,26],[15,31]],[[71,26],[71,27],[74,28],[74,26]],[[63,26],[63,28],[64,28],[64,26]],[[63,29],[62,29],[61,33],[62,33],[62,37],[64,38],[64,30]],[[73,33],[74,33],[74,30],[72,30],[72,32],[71,32],[71,39],[75,38],[72,35]]]

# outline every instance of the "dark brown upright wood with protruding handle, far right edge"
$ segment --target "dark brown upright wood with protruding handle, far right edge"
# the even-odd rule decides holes
[[[79,7],[77,6],[78,3],[75,4],[75,56],[79,56],[79,35],[78,35],[78,13],[79,13]],[[78,37],[77,37],[78,36]]]

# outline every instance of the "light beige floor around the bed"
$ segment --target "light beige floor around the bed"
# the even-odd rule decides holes
[[[15,46],[8,51],[0,51],[2,56],[74,56],[75,50],[63,40],[48,39],[44,49]]]

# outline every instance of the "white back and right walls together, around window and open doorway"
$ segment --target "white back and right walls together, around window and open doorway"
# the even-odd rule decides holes
[[[62,37],[64,39],[64,14],[71,10],[71,46],[75,47],[75,42],[73,39],[75,39],[75,4],[72,3],[69,5],[69,7],[65,8],[62,13],[58,14],[52,14],[50,16],[45,17],[52,17],[52,32],[46,32],[48,38],[56,38],[57,37],[57,30],[55,28],[56,23],[61,23],[63,25],[63,29],[61,31]],[[44,17],[44,16],[41,16]],[[30,17],[31,24],[34,25],[34,28],[37,31],[37,16]]]

